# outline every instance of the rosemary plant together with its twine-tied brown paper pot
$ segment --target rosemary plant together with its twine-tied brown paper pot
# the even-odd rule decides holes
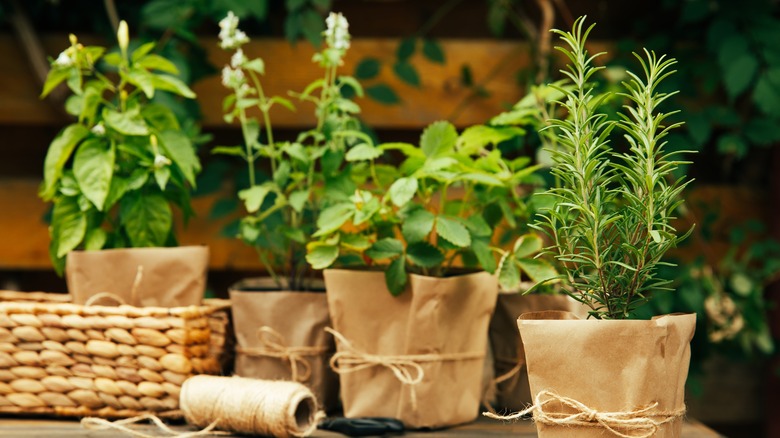
[[[687,183],[672,182],[680,163],[664,148],[679,124],[661,104],[674,60],[645,51],[642,73],[628,72],[625,92],[599,93],[586,40],[593,26],[579,18],[571,32],[556,30],[569,64],[562,73],[566,116],[550,120],[558,137],[551,151],[549,190],[554,204],[540,228],[565,272],[568,293],[592,319],[565,312],[524,314],[518,320],[540,436],[679,436],[695,315],[630,320],[638,305],[666,282],[656,271],[662,256],[685,236],[671,223]],[[624,101],[613,121],[600,106]],[[623,134],[625,150],[612,149],[610,131]]]

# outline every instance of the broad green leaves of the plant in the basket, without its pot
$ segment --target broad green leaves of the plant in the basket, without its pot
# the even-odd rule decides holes
[[[197,132],[154,98],[195,93],[154,43],[129,50],[124,21],[117,40],[119,50],[106,53],[70,35],[41,93],[65,82],[73,93],[65,109],[77,118],[49,145],[39,191],[53,204],[49,249],[59,273],[75,249],[175,245],[171,207],[192,215]]]

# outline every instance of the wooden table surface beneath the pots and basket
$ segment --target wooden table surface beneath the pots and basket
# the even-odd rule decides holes
[[[158,430],[149,425],[135,425],[133,428],[143,431],[148,435],[157,435]],[[178,431],[196,430],[189,426],[175,426]],[[108,438],[129,437],[130,435],[118,431],[88,431],[81,427],[77,420],[53,420],[53,419],[20,419],[0,417],[0,437],[3,438],[51,438],[51,437],[84,437],[84,438]],[[160,436],[163,436],[160,434]],[[224,436],[224,435],[223,435]],[[313,437],[343,437],[345,435],[317,431]],[[480,418],[474,423],[453,427],[450,429],[432,432],[407,432],[403,436],[410,438],[434,438],[434,437],[536,437],[536,429],[531,421],[504,423],[500,421]],[[712,429],[696,421],[688,421],[683,426],[682,438],[718,438]]]

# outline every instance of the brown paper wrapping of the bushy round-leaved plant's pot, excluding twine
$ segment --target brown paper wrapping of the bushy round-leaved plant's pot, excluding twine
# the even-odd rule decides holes
[[[498,285],[485,272],[449,278],[410,275],[393,297],[383,272],[325,270],[333,327],[361,352],[380,356],[455,354],[487,349]],[[337,348],[342,345],[337,343]],[[395,417],[409,428],[474,420],[482,396],[484,357],[420,363],[425,376],[402,385],[382,366],[341,375],[346,417]]]

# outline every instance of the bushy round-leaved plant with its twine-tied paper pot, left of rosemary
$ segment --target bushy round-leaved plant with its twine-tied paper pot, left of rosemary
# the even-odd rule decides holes
[[[535,171],[495,145],[521,133],[459,134],[441,121],[419,146],[354,133],[363,142],[346,159],[365,182],[322,211],[307,256],[315,269],[346,268],[324,271],[346,416],[412,428],[475,418],[498,292],[493,240]]]

